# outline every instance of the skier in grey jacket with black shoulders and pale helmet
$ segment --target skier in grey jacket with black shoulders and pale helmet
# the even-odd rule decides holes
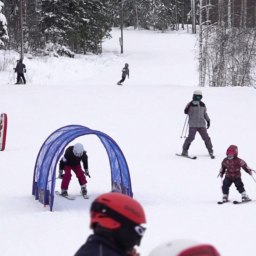
[[[195,90],[193,93],[193,100],[186,105],[184,110],[185,114],[189,115],[189,136],[186,138],[182,148],[182,155],[188,156],[188,149],[193,140],[195,140],[195,134],[198,131],[201,135],[204,143],[208,149],[209,154],[213,155],[211,138],[207,133],[207,129],[210,127],[210,119],[207,114],[206,105],[201,102],[203,98],[201,90]],[[207,122],[207,128],[205,127]]]

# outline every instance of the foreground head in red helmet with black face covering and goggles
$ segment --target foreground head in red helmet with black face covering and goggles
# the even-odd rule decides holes
[[[120,193],[97,197],[90,208],[90,228],[94,233],[113,240],[123,250],[140,245],[146,223],[142,206]]]

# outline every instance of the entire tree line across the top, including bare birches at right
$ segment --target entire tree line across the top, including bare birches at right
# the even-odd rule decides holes
[[[124,27],[186,29],[191,1],[22,0],[24,52],[99,54],[111,27],[121,24],[121,6]],[[199,86],[255,87],[256,0],[194,1]],[[19,5],[20,0],[0,1],[0,49],[20,50]]]

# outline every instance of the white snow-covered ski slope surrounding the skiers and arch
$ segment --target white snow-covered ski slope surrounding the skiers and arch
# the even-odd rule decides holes
[[[0,113],[7,113],[8,128],[6,149],[0,152],[0,255],[70,256],[91,233],[90,203],[111,189],[108,157],[96,136],[74,141],[84,144],[89,157],[90,199],[80,195],[75,175],[68,192],[76,200],[55,196],[54,212],[32,196],[42,143],[70,124],[102,131],[122,149],[134,198],[146,212],[147,230],[138,248],[142,256],[164,241],[180,238],[211,243],[223,256],[255,255],[256,203],[232,204],[241,199],[232,185],[231,203],[218,205],[222,193],[217,175],[231,144],[256,169],[256,90],[196,87],[196,39],[186,30],[124,31],[123,55],[120,31],[113,29],[112,35],[99,56],[25,59],[32,84],[7,85],[12,66],[10,73],[1,73]],[[13,56],[14,64],[17,58]],[[126,62],[130,79],[117,86]],[[175,155],[184,142],[183,109],[195,89],[202,90],[211,119],[213,160],[199,134],[189,149],[196,160]],[[255,199],[252,177],[242,171],[242,180]],[[60,184],[56,180],[56,190]]]

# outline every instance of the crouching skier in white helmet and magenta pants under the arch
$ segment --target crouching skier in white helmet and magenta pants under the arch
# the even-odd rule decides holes
[[[83,162],[84,172],[81,168],[81,161]],[[87,180],[84,174],[89,176],[88,157],[86,151],[84,151],[84,146],[81,143],[76,143],[74,146],[68,147],[65,151],[64,157],[62,157],[60,160],[58,177],[62,179],[61,194],[64,196],[68,195],[67,189],[72,177],[71,170],[75,172],[76,177],[79,179],[79,183],[81,185],[81,194],[85,197],[87,195]]]

